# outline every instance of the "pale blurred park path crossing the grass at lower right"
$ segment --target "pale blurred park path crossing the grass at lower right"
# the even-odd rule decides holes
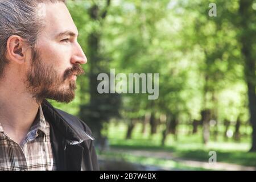
[[[217,162],[216,164],[210,164],[208,162],[202,162],[198,160],[190,160],[190,159],[183,159],[183,158],[176,158],[172,155],[171,152],[166,151],[145,151],[145,150],[127,150],[127,149],[116,149],[111,148],[112,152],[118,152],[122,154],[131,154],[134,156],[143,156],[143,157],[154,157],[157,159],[164,159],[164,160],[173,160],[175,162],[179,162],[180,164],[184,164],[188,167],[197,167],[197,168],[205,168],[210,170],[226,170],[226,171],[255,171],[256,167],[249,167],[249,166],[241,166],[238,164],[230,164],[224,162]],[[172,168],[162,167],[163,170],[171,170]]]

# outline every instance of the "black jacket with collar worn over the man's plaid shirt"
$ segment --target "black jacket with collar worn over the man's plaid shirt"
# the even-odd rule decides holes
[[[42,103],[44,117],[50,124],[52,152],[57,170],[98,170],[89,127],[71,114],[55,109],[48,101]]]

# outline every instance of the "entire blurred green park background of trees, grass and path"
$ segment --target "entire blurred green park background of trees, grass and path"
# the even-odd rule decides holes
[[[51,103],[92,129],[101,169],[256,169],[256,1],[67,5],[88,63],[75,100]],[[110,69],[159,73],[159,98],[99,94]]]

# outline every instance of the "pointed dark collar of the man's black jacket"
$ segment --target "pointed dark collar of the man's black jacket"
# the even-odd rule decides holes
[[[94,140],[94,138],[84,131],[84,127],[79,126],[77,118],[55,109],[47,100],[42,102],[42,108],[45,115],[49,116],[49,122],[57,127],[60,133],[65,137],[69,144],[78,144],[84,140]],[[77,119],[77,122],[73,122]]]

